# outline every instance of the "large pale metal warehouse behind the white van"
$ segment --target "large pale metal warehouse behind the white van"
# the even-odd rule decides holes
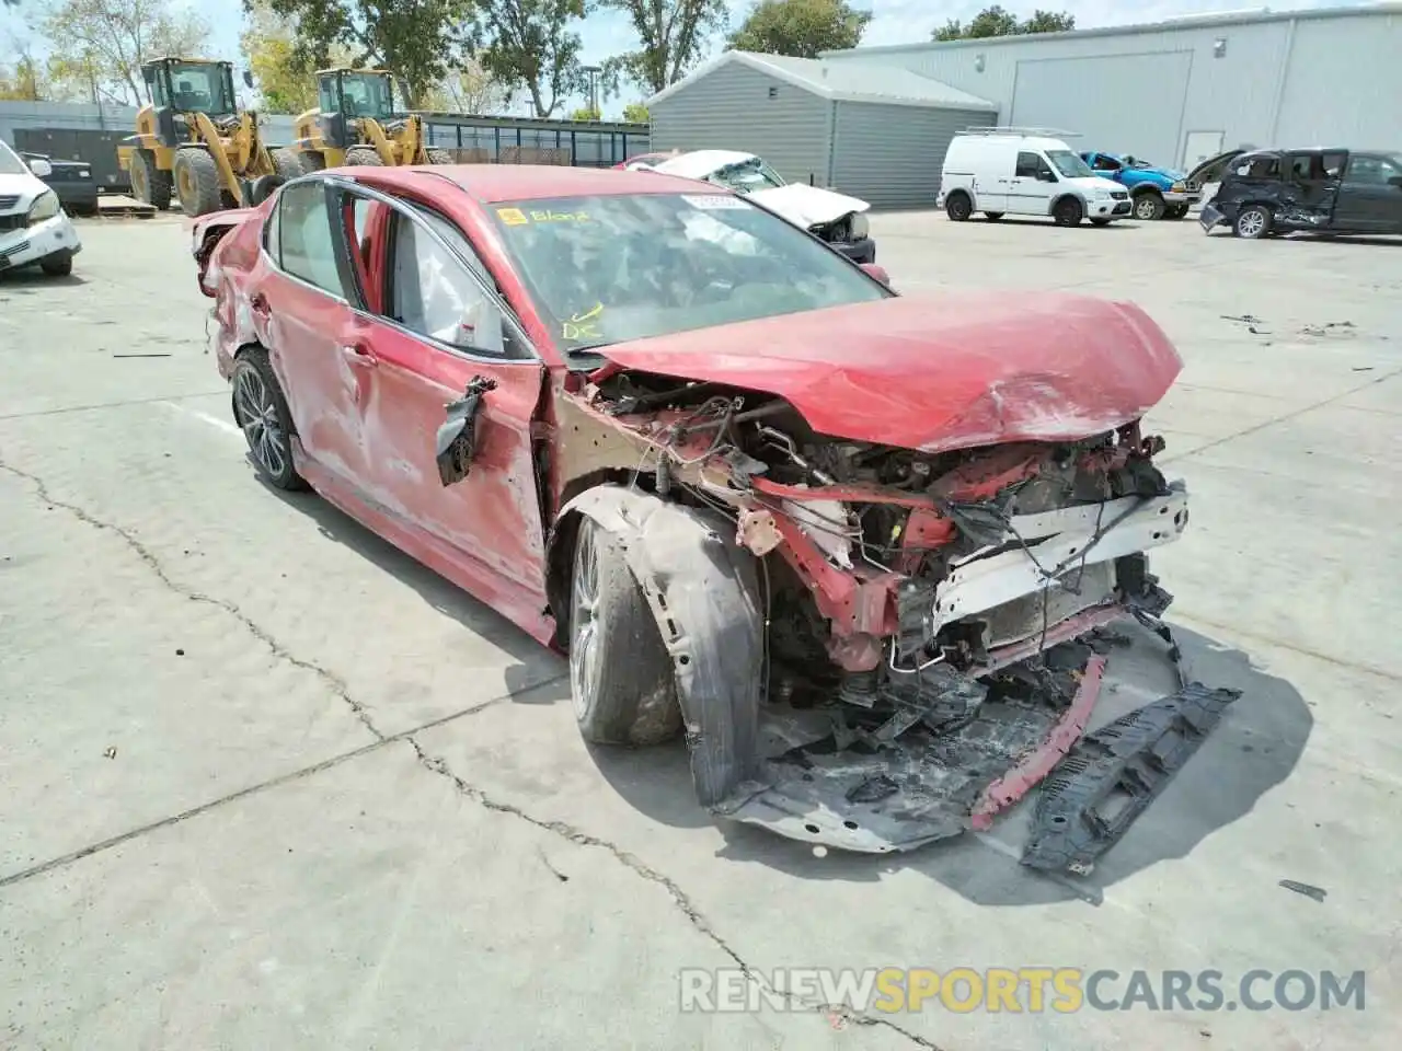
[[[858,48],[823,59],[844,80],[903,67],[993,99],[1001,125],[1080,132],[1075,149],[1157,164],[1186,168],[1238,146],[1402,149],[1399,3]],[[756,125],[765,121],[758,107],[750,114]],[[751,126],[747,136],[763,142],[768,132]]]

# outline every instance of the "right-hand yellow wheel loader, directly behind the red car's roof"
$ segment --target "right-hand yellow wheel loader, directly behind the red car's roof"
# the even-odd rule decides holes
[[[345,164],[451,164],[432,150],[423,121],[394,107],[394,74],[381,69],[327,69],[317,73],[317,109],[301,114],[292,150],[303,171]]]

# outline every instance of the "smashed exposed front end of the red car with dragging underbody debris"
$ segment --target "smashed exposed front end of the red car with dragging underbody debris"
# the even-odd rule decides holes
[[[925,454],[817,434],[788,402],[723,384],[614,364],[573,378],[557,419],[590,440],[561,476],[707,509],[757,565],[754,583],[729,575],[756,591],[753,722],[744,703],[719,724],[702,712],[744,691],[740,673],[701,682],[677,657],[698,796],[716,814],[910,849],[987,827],[1056,771],[1023,862],[1088,872],[1235,698],[1180,681],[1085,736],[1112,622],[1178,657],[1145,552],[1178,540],[1187,493],[1137,420]],[[649,598],[666,591],[645,555],[634,569]],[[680,653],[676,603],[653,612]]]

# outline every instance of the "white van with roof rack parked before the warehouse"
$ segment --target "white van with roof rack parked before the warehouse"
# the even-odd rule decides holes
[[[1130,214],[1130,195],[1099,178],[1057,133],[1039,128],[970,128],[949,143],[935,203],[962,223],[1050,216],[1061,226],[1106,226]]]

